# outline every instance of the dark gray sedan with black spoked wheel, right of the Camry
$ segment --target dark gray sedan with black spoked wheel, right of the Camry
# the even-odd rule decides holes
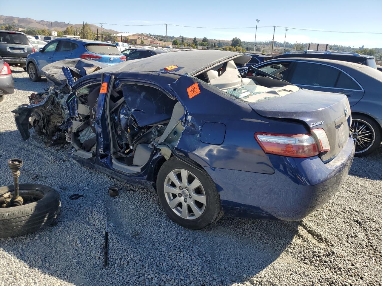
[[[375,151],[382,140],[382,73],[365,64],[314,58],[274,58],[254,66],[300,88],[348,97],[355,156]],[[245,72],[241,72],[242,74]],[[249,75],[256,74],[256,71]],[[326,95],[326,96],[329,96]],[[348,111],[350,112],[350,111]]]

